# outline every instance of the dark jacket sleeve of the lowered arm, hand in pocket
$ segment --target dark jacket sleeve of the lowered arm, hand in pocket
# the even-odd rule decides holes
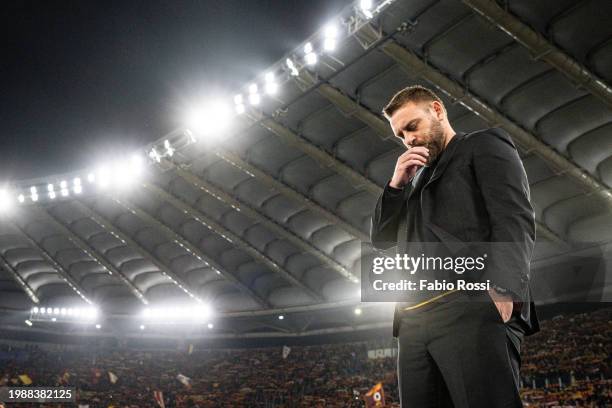
[[[489,217],[490,253],[484,279],[527,299],[535,214],[516,147],[498,129],[474,138],[473,168]]]

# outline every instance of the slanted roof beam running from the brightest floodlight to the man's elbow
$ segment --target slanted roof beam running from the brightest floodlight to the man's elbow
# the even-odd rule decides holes
[[[257,178],[259,182],[261,182],[262,184],[265,184],[269,188],[272,188],[278,191],[279,193],[289,198],[290,200],[298,201],[301,205],[303,205],[310,211],[327,219],[329,222],[342,228],[343,230],[353,235],[357,239],[360,239],[362,241],[367,241],[370,239],[368,237],[368,234],[364,233],[359,228],[353,226],[352,224],[349,224],[347,221],[338,217],[333,212],[327,210],[323,206],[312,201],[311,198],[303,195],[297,190],[294,190],[292,187],[289,187],[286,183],[283,183],[282,181],[277,180],[276,178],[270,176],[268,173],[260,170],[254,165],[243,160],[236,153],[220,148],[220,147],[216,147],[215,150],[216,150],[215,155],[219,157],[221,160],[224,160],[225,162],[231,164],[232,166],[242,170],[244,173],[248,174],[249,176]]]

